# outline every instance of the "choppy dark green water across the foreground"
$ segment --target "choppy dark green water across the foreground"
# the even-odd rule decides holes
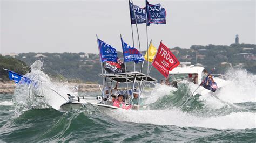
[[[255,122],[254,126],[248,129],[229,128],[222,130],[207,127],[134,123],[129,122],[129,119],[118,121],[118,119],[105,115],[90,104],[85,105],[80,110],[70,110],[69,112],[60,112],[52,108],[30,109],[16,117],[14,105],[11,104],[11,97],[12,95],[8,94],[0,95],[2,101],[0,103],[0,141],[256,141]],[[254,113],[255,118],[255,103],[240,104],[245,107],[242,109],[244,111],[234,112]],[[166,111],[166,113],[168,112]],[[229,114],[229,112],[224,113],[224,115]],[[161,120],[161,117],[155,118]],[[233,127],[236,128],[235,126],[238,125],[234,124]]]

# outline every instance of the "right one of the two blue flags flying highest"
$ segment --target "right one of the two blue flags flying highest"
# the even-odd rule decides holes
[[[166,24],[166,11],[160,4],[149,4],[146,0],[147,25]]]

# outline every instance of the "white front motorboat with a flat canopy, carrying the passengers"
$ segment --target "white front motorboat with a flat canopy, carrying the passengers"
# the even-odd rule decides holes
[[[138,84],[137,93],[140,95],[142,94],[143,87],[146,82],[157,82],[156,79],[153,77],[147,76],[143,73],[134,71],[134,72],[128,72],[128,73],[109,73],[109,74],[99,74],[99,76],[104,77],[104,85],[103,89],[108,89],[109,91],[115,91],[116,94],[122,94],[125,95],[125,103],[126,105],[131,104],[132,108],[132,102],[130,102],[133,99],[133,91]],[[130,88],[123,88],[123,89],[112,89],[113,82],[118,82],[120,84],[125,84],[126,87],[132,85]],[[106,87],[106,88],[105,88]],[[106,94],[105,90],[102,90],[102,96],[96,97],[76,97],[73,95],[69,95],[69,99],[67,99],[67,102],[63,103],[60,106],[60,111],[67,111],[70,109],[79,109],[84,104],[92,104],[93,106],[97,106],[100,111],[112,111],[112,110],[125,110],[113,105],[108,105],[107,102],[112,101],[112,97],[110,96],[110,92]]]

